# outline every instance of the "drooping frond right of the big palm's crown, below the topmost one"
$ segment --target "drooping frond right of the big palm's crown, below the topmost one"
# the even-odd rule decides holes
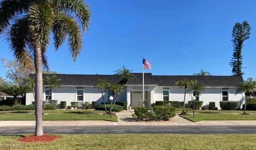
[[[76,57],[82,50],[82,34],[76,20],[68,14],[58,14],[54,18],[54,31],[64,31],[68,34],[68,45],[70,47],[70,53],[72,58],[76,61]],[[54,39],[58,39],[59,42],[55,43],[56,48],[63,42],[63,33],[58,35],[59,32],[55,32]],[[57,38],[57,36],[59,36]]]

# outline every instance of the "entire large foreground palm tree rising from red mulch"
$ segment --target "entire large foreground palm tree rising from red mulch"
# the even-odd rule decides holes
[[[82,49],[82,30],[90,24],[90,10],[82,0],[2,0],[0,2],[0,34],[6,33],[10,48],[20,64],[33,68],[35,82],[35,135],[43,135],[42,126],[42,65],[49,69],[46,47],[51,34],[55,49],[64,43],[66,35],[72,58]]]

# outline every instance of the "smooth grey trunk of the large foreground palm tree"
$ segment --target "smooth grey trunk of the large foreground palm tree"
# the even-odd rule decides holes
[[[34,64],[36,70],[36,85],[35,85],[35,114],[36,114],[36,130],[35,136],[41,136],[43,132],[42,122],[42,104],[43,104],[43,76],[42,76],[42,52],[38,46],[34,52]]]

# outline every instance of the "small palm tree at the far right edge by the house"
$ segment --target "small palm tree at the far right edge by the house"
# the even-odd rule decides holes
[[[244,114],[246,114],[246,95],[248,94],[254,95],[253,92],[255,92],[255,88],[256,88],[256,81],[252,80],[252,78],[248,78],[246,81],[236,86],[236,94],[238,94],[238,92],[245,93]]]

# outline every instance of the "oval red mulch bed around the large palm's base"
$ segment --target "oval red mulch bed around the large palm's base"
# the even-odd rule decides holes
[[[49,142],[55,139],[60,138],[59,136],[51,136],[51,135],[42,135],[42,136],[26,136],[19,138],[18,140],[21,142]]]

